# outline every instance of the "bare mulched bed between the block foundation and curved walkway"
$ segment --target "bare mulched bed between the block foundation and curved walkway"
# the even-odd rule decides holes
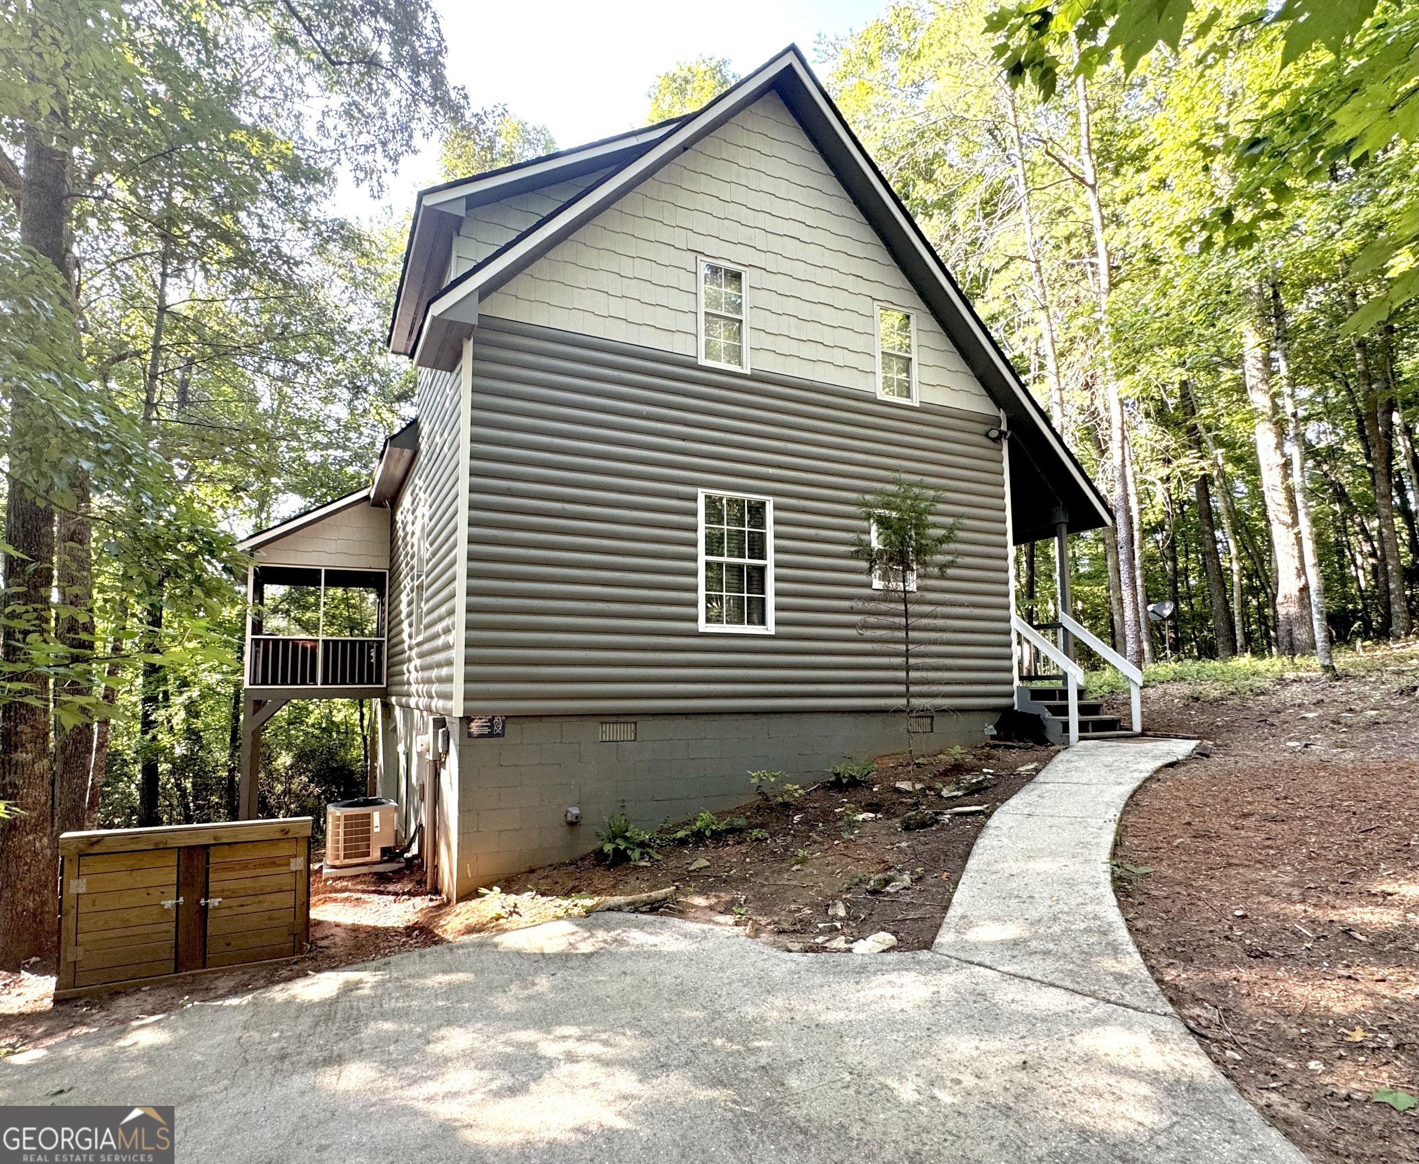
[[[612,896],[675,885],[663,912],[742,926],[779,948],[833,953],[885,931],[900,950],[925,950],[990,810],[1025,787],[1056,750],[993,744],[959,759],[893,757],[857,787],[819,784],[788,804],[755,801],[721,812],[721,819],[736,818],[742,827],[660,848],[658,861],[607,866],[592,854],[508,878],[502,888]],[[986,787],[951,794],[971,778]],[[962,808],[983,811],[938,817]]]

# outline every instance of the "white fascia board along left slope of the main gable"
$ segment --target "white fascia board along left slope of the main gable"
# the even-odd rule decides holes
[[[480,295],[484,286],[495,282],[505,272],[519,268],[526,261],[529,252],[555,245],[562,238],[572,234],[578,227],[589,223],[603,210],[617,203],[626,196],[626,193],[639,186],[646,174],[654,173],[666,162],[674,157],[674,155],[688,149],[697,138],[708,132],[704,125],[705,122],[718,123],[721,121],[728,121],[739,109],[753,101],[758,101],[758,98],[762,96],[759,91],[766,88],[773,78],[783,71],[786,64],[797,68],[797,57],[795,57],[792,51],[779,54],[758,72],[744,78],[744,81],[741,81],[736,86],[739,89],[739,96],[736,99],[714,102],[698,116],[691,118],[688,122],[683,122],[674,129],[674,132],[661,138],[657,145],[651,146],[634,162],[627,163],[622,170],[607,177],[600,186],[593,187],[590,193],[568,203],[565,210],[548,218],[542,224],[541,230],[534,231],[518,245],[509,247],[501,255],[495,255],[488,259],[487,264],[482,268],[478,268],[471,278],[450,288],[441,295],[436,295],[430,301],[424,316],[426,326],[427,319],[433,316],[447,316],[457,303],[463,302],[470,295]]]

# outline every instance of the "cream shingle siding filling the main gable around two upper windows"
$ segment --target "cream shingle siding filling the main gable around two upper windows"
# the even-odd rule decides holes
[[[888,302],[915,315],[921,398],[992,410],[776,94],[666,164],[480,310],[694,356],[697,254],[748,272],[755,369],[876,393],[873,303]]]

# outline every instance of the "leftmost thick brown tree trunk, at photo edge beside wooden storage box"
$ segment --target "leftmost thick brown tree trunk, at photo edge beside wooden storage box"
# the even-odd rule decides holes
[[[20,241],[54,264],[71,285],[68,257],[70,155],[43,126],[26,126]],[[23,815],[0,822],[0,968],[53,953],[58,913],[53,848],[50,681],[34,666],[26,642],[53,634],[54,510],[43,486],[23,479],[48,434],[41,410],[23,383],[11,388],[10,472],[4,522],[4,605],[0,658],[13,668],[9,683],[33,700],[11,700],[0,713],[0,801]]]

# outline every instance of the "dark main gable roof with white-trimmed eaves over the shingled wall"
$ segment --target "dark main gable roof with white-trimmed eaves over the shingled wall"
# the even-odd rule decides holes
[[[815,77],[797,45],[789,45],[694,113],[620,138],[604,139],[579,150],[566,150],[561,155],[565,159],[565,170],[558,170],[558,162],[549,162],[535,170],[538,181],[551,184],[570,177],[572,167],[576,166],[583,167],[576,173],[592,173],[607,164],[614,166],[427,298],[414,292],[412,285],[406,296],[406,285],[402,282],[396,306],[396,332],[407,339],[394,350],[412,353],[420,366],[451,370],[458,362],[463,339],[471,333],[478,320],[478,301],[482,296],[525,271],[661,166],[714,133],[769,91],[776,92],[793,113],[986,394],[1005,414],[1010,432],[1015,540],[1019,543],[1050,537],[1059,522],[1064,522],[1070,532],[1112,525],[1112,513],[1103,495],[1054,431],[915,218]],[[612,147],[610,143],[616,142],[623,146]],[[619,160],[613,162],[613,157]],[[524,164],[531,167],[543,160]],[[495,170],[453,186],[463,189],[463,197],[478,197],[480,183],[485,179],[501,181],[504,193],[497,197],[507,197],[514,191],[507,174],[515,169],[518,167]],[[532,173],[529,170],[524,177],[531,177]],[[437,197],[438,191],[450,189],[453,187],[424,191],[420,196],[420,206],[426,194]],[[499,187],[482,187],[482,190],[492,189]],[[414,231],[410,233],[410,255],[414,254],[416,233],[417,218]],[[450,233],[444,242],[434,244],[444,264],[451,237]],[[406,261],[406,272],[409,267]]]

